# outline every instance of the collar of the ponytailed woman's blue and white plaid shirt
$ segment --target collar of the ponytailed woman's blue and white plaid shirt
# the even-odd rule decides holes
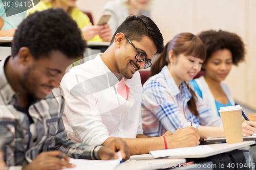
[[[185,96],[186,96],[187,99],[191,98],[191,94],[190,94],[189,89],[187,88],[185,82],[184,81],[181,82],[181,85],[180,85],[181,91],[180,91],[179,87],[175,83],[174,78],[170,74],[170,71],[169,71],[169,69],[166,65],[162,68],[161,74],[163,74],[163,76],[164,76],[164,78],[167,82],[167,86],[172,91],[173,95],[177,95],[179,93],[182,93],[182,94],[186,94]]]

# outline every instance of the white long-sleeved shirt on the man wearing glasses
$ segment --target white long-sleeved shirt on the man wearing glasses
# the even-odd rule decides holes
[[[142,134],[141,81],[137,71],[125,84],[125,100],[117,91],[118,79],[101,60],[73,67],[60,85],[66,106],[62,116],[68,138],[87,144],[102,144],[110,136],[136,138]]]

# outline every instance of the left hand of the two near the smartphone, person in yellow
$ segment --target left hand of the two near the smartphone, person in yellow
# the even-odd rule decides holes
[[[91,40],[94,36],[100,34],[100,30],[104,29],[104,26],[84,26],[81,28],[82,36],[84,40]]]

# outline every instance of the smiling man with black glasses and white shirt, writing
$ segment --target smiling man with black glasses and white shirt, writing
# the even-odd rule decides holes
[[[143,15],[127,17],[104,53],[73,67],[61,81],[66,98],[62,119],[68,137],[96,145],[121,137],[132,155],[199,143],[193,127],[166,132],[165,138],[143,134],[137,70],[150,67],[153,56],[162,52],[163,37],[154,21]]]

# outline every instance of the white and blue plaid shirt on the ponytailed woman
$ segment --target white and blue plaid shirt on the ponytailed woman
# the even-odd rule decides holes
[[[199,116],[194,117],[193,127],[198,128],[199,125],[221,127],[221,118],[210,110],[197,93],[196,95]],[[178,88],[167,66],[145,82],[143,96],[144,134],[159,136],[163,135],[166,130],[174,133],[178,128],[191,125],[192,113],[187,107],[187,102],[191,98],[189,89],[184,82],[181,83],[180,89]]]

